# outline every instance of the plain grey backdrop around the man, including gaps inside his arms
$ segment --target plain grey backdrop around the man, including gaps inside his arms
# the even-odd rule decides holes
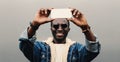
[[[18,38],[39,8],[51,7],[73,7],[85,14],[102,45],[93,62],[120,61],[120,0],[0,0],[0,62],[29,62],[19,50]],[[38,39],[51,36],[49,29],[49,23],[41,26]],[[69,38],[84,43],[84,35],[73,23]]]

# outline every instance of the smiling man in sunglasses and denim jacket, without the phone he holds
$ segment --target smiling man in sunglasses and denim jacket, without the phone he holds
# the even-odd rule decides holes
[[[91,62],[100,50],[97,37],[92,33],[84,15],[72,9],[72,18],[49,18],[52,9],[40,9],[30,26],[22,33],[20,50],[31,62]],[[86,45],[67,38],[69,21],[81,28]],[[39,26],[51,22],[53,37],[36,41],[35,33]],[[42,33],[41,33],[42,34]]]

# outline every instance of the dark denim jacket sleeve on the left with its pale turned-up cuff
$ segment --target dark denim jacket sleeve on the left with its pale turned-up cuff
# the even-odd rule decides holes
[[[34,42],[36,40],[36,36],[34,35],[32,38],[28,38],[27,35],[27,29],[21,34],[19,41],[19,48],[23,52],[24,56],[30,60],[33,61],[33,46]]]

